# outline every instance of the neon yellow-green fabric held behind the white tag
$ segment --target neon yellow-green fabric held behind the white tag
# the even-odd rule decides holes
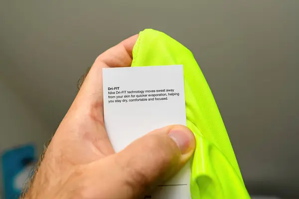
[[[192,53],[162,32],[140,32],[132,67],[180,64],[184,68],[187,126],[196,138],[192,199],[250,198],[218,107]]]

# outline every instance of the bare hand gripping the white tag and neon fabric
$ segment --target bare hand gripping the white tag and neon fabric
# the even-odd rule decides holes
[[[122,41],[95,60],[21,198],[136,199],[174,175],[191,157],[195,140],[182,125],[149,132],[119,153],[109,141],[102,69],[131,66],[137,38]]]

